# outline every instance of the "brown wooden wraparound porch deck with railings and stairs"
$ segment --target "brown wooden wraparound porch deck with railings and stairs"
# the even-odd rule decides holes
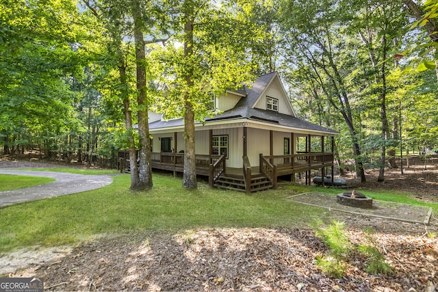
[[[333,148],[334,140],[331,137],[331,147],[326,150],[327,143],[324,136],[320,136],[320,151],[312,152],[311,135],[305,137],[305,145],[295,151],[298,138],[292,133],[292,152],[287,155],[263,155],[259,154],[259,161],[251,165],[248,156],[242,156],[242,168],[227,167],[225,155],[195,155],[196,174],[207,176],[211,187],[235,189],[247,193],[261,191],[263,189],[276,189],[281,176],[290,176],[295,181],[296,174],[305,176],[305,183],[311,183],[311,170],[320,170],[325,176],[328,168],[331,169],[333,183]],[[304,147],[304,148],[303,148]],[[299,147],[298,147],[299,148]],[[246,151],[244,151],[246,152]],[[184,153],[176,152],[152,152],[152,168],[156,170],[168,170],[177,174],[183,172]],[[118,152],[118,166],[120,172],[129,172],[129,152]],[[324,185],[324,181],[322,181]]]

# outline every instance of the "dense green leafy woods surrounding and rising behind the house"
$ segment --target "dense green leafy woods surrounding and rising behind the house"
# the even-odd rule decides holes
[[[339,171],[438,152],[438,1],[3,0],[0,153],[116,166],[152,187],[148,111],[195,120],[209,94],[279,72],[299,116],[341,133]],[[163,88],[166,88],[164,95]],[[138,130],[137,130],[138,129]],[[191,150],[192,149],[192,150]],[[140,161],[137,166],[135,161]]]

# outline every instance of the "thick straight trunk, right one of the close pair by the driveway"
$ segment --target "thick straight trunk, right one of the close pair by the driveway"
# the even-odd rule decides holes
[[[138,134],[140,136],[140,156],[138,165],[139,183],[136,189],[151,189],[152,183],[152,157],[151,139],[149,138],[148,110],[149,101],[146,95],[146,68],[144,62],[146,52],[144,49],[144,36],[142,33],[143,22],[139,0],[131,3],[131,12],[134,22],[134,40],[136,42],[136,75],[137,75],[137,103],[138,103]]]

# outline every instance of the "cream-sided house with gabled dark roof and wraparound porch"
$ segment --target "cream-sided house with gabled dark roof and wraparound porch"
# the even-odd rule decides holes
[[[280,176],[305,173],[310,183],[310,170],[333,174],[337,132],[298,118],[277,72],[211,104],[221,114],[195,125],[196,174],[211,186],[250,192],[276,188]],[[149,131],[152,168],[183,172],[183,119],[151,113]]]

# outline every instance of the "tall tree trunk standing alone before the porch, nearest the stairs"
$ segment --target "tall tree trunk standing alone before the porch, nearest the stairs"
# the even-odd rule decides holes
[[[186,12],[184,25],[184,57],[190,57],[193,54],[193,19],[191,12]],[[193,85],[192,74],[190,70],[185,77],[185,83],[188,88]],[[195,189],[196,181],[196,161],[195,161],[195,146],[194,146],[194,111],[190,93],[185,93],[184,96],[184,170],[183,170],[183,187]]]

